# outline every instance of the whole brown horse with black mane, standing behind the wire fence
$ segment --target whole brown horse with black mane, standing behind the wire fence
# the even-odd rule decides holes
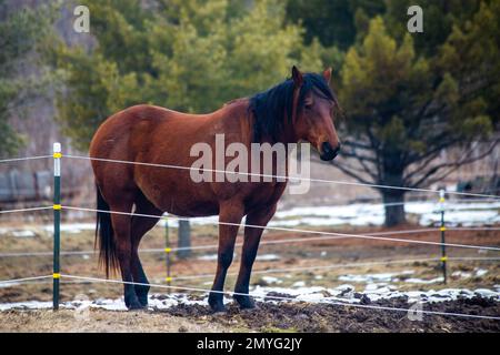
[[[292,78],[266,92],[233,100],[209,114],[187,114],[153,105],[136,105],[107,119],[90,144],[94,159],[191,166],[190,148],[198,142],[213,148],[216,134],[228,143],[310,142],[322,160],[332,160],[340,148],[333,125],[337,100],[322,75],[302,74],[292,68]],[[276,163],[276,161],[274,161]],[[219,215],[219,251],[216,278],[209,295],[213,311],[223,311],[226,273],[232,262],[238,224],[264,227],[273,216],[286,181],[193,182],[189,170],[92,160],[98,187],[98,239],[100,258],[110,270],[120,267],[124,282],[148,284],[139,260],[142,236],[163,212],[194,217]],[[133,213],[110,214],[104,211]],[[146,217],[149,214],[158,217]],[[233,225],[234,224],[234,225]],[[234,291],[249,292],[250,273],[262,229],[247,226],[241,265]],[[129,310],[148,304],[149,287],[124,284]],[[234,295],[243,308],[254,306],[249,296]]]

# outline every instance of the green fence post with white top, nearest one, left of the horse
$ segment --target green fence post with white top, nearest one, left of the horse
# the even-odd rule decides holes
[[[60,225],[61,225],[61,143],[53,143],[53,271],[52,307],[59,310]]]

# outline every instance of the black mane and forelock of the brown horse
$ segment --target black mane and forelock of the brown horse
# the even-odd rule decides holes
[[[306,73],[300,88],[297,110],[303,108],[306,94],[313,90],[316,94],[337,103],[337,98],[328,82],[320,74]],[[260,142],[263,135],[269,135],[273,142],[283,130],[284,119],[291,121],[293,109],[293,80],[287,79],[282,83],[259,92],[250,98],[249,112],[254,115],[253,142]]]

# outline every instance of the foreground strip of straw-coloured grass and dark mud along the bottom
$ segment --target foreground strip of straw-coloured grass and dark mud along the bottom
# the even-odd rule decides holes
[[[408,307],[406,300],[374,303]],[[426,304],[423,311],[499,315],[500,304],[474,297]],[[112,312],[91,310],[81,317],[76,311],[0,312],[0,332],[264,332],[264,333],[451,333],[500,332],[500,322],[423,314],[410,321],[406,312],[387,312],[350,306],[308,303],[258,303],[258,308],[240,311],[230,305],[223,314],[208,306],[176,306],[168,311]]]

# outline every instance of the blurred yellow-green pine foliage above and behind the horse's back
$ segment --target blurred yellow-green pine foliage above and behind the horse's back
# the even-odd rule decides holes
[[[73,144],[86,150],[100,122],[137,103],[203,113],[283,80],[291,65],[319,71],[318,43],[286,24],[284,4],[257,1],[170,0],[144,8],[134,0],[89,4],[90,51],[54,47],[49,58],[64,69],[59,116]]]

